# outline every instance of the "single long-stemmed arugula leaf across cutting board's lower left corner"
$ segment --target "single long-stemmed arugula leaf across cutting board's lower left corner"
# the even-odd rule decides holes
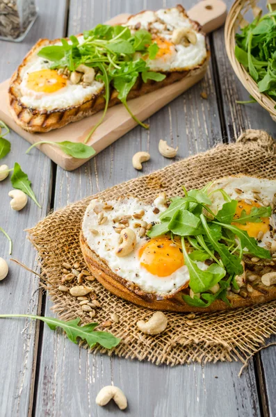
[[[26,150],[26,154],[28,154],[33,147],[44,143],[59,147],[65,154],[73,156],[73,158],[86,159],[96,153],[95,149],[80,142],[70,142],[69,140],[65,140],[63,142],[50,142],[49,140],[41,140],[40,142],[36,142],[31,145],[29,149]]]

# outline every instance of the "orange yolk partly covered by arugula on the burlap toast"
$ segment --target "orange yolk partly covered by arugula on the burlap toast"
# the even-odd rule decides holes
[[[261,207],[260,204],[250,200],[252,202],[252,204],[247,204],[244,201],[238,202],[238,206],[236,208],[236,213],[234,215],[235,219],[238,219],[241,217],[241,212],[243,210],[245,210],[246,214],[250,214],[250,211],[252,210],[252,207]],[[261,222],[259,223],[255,223],[255,222],[246,222],[246,224],[241,224],[238,222],[234,222],[232,223],[234,224],[236,227],[238,227],[238,229],[241,230],[245,230],[247,231],[247,234],[251,237],[251,238],[256,238],[259,234],[259,231],[262,231],[263,234],[266,234],[267,231],[269,231],[269,218],[261,218]]]

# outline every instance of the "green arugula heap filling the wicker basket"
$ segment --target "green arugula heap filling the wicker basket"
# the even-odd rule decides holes
[[[275,99],[276,13],[271,5],[268,8],[270,13],[256,17],[236,34],[235,56],[257,82],[259,91]]]

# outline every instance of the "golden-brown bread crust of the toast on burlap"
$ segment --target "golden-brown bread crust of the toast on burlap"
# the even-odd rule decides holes
[[[185,290],[182,288],[179,293],[176,293],[173,297],[163,298],[159,300],[154,294],[145,293],[141,288],[133,284],[133,282],[119,277],[104,262],[100,259],[94,251],[90,249],[86,238],[83,236],[83,231],[80,233],[80,245],[83,253],[83,258],[86,261],[91,274],[111,293],[117,295],[117,297],[123,298],[133,304],[146,307],[152,310],[163,311],[178,311],[183,313],[188,312],[201,312],[207,313],[211,311],[222,311],[228,309],[237,309],[239,307],[247,307],[253,304],[260,304],[276,299],[276,286],[264,286],[258,284],[253,288],[252,293],[247,293],[247,297],[243,298],[241,295],[232,293],[227,295],[231,307],[227,306],[222,300],[214,301],[209,307],[200,308],[193,307],[186,304],[182,298],[182,295],[188,294],[188,288]],[[187,284],[188,285],[188,284]]]

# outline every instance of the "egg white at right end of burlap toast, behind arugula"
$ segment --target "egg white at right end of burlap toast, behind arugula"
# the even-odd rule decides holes
[[[271,205],[273,205],[273,197],[276,193],[276,180],[273,179],[260,179],[248,176],[241,177],[225,177],[215,181],[212,186],[209,188],[209,192],[212,190],[217,190],[222,188],[232,199],[245,200],[250,199],[254,202],[258,202],[261,206],[263,205],[263,200],[267,200]],[[237,193],[236,189],[241,190],[242,193]],[[261,201],[254,198],[254,193],[258,192]],[[222,194],[217,192],[214,193],[211,197],[212,205],[211,210],[213,213],[218,213],[222,205],[225,203],[225,200],[222,197]],[[272,214],[269,219],[270,231],[266,232],[261,240],[258,242],[258,245],[261,247],[266,247],[266,242],[272,242],[273,238],[276,236],[276,215]]]

